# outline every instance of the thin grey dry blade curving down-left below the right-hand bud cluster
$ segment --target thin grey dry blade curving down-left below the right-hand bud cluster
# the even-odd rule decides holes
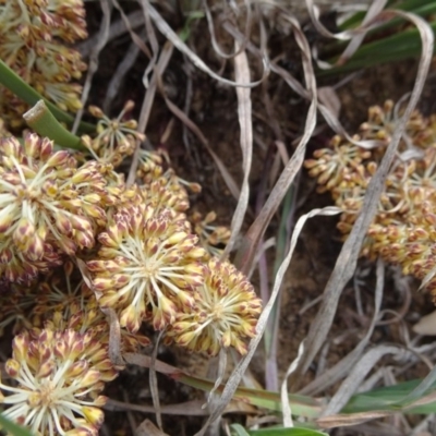
[[[374,315],[365,337],[358,343],[358,346],[354,348],[353,351],[351,351],[346,358],[341,359],[335,366],[324,372],[319,377],[317,377],[311,384],[305,386],[300,393],[312,395],[312,396],[318,395],[320,391],[327,389],[329,386],[334,385],[342,377],[344,377],[350,372],[350,370],[358,363],[358,361],[362,356],[363,351],[368,344],[374,328],[377,324],[380,314],[384,287],[385,287],[385,265],[382,259],[378,259],[377,283],[375,288],[375,298],[374,298],[375,300]]]

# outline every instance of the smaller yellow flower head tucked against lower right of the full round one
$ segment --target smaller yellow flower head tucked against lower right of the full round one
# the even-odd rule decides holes
[[[228,262],[211,258],[197,288],[195,304],[180,313],[168,338],[191,351],[218,354],[221,348],[246,353],[262,303],[247,278]]]

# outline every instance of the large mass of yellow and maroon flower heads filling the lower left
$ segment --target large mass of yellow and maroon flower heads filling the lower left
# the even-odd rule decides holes
[[[144,138],[124,111],[113,122],[100,114],[84,141],[90,160],[35,133],[0,137],[0,334],[15,335],[0,403],[35,434],[97,435],[100,392],[121,370],[109,359],[109,313],[121,352],[149,344],[143,323],[209,355],[244,354],[255,335],[261,300],[217,257],[229,230],[211,226],[213,213],[186,218],[187,190],[199,185],[154,152],[137,183],[114,171]]]

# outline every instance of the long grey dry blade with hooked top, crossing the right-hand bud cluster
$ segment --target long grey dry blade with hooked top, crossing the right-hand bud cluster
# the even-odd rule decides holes
[[[336,262],[335,269],[331,272],[330,279],[328,280],[324,291],[322,306],[316,315],[316,318],[311,325],[306,342],[306,352],[302,359],[300,368],[295,372],[295,380],[301,379],[302,374],[307,371],[316,353],[323,346],[328,331],[330,330],[331,323],[336,314],[336,308],[338,306],[339,296],[344,286],[354,274],[363,240],[376,213],[378,198],[380,197],[385,186],[386,175],[388,174],[390,165],[397,153],[397,147],[401,136],[403,135],[405,123],[416,106],[419,97],[421,96],[432,61],[434,36],[431,26],[423,19],[411,13],[400,11],[390,11],[390,13],[398,14],[407,20],[410,20],[420,31],[423,50],[416,81],[410,97],[410,101],[405,108],[403,117],[401,118],[401,122],[392,135],[391,143],[386,150],[376,174],[371,180],[363,202],[362,211],[359,215],[349,238],[342,246],[342,250]]]

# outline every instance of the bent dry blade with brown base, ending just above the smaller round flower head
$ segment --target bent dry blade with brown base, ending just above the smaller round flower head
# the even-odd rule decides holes
[[[308,108],[303,136],[300,140],[300,143],[294,154],[292,155],[291,160],[284,167],[279,180],[275,184],[259,215],[250,227],[249,231],[242,240],[241,247],[238,251],[234,263],[237,267],[243,272],[247,272],[251,269],[255,253],[258,249],[265,230],[269,225],[277,208],[279,207],[281,201],[283,199],[283,196],[288,192],[289,186],[300,171],[300,168],[304,160],[306,144],[311,138],[316,125],[317,96],[315,74],[311,60],[311,49],[303,32],[300,28],[300,24],[298,23],[298,21],[293,17],[289,17],[289,20],[294,31],[295,40],[301,48],[304,77],[307,83],[308,90],[312,95],[312,101]]]

